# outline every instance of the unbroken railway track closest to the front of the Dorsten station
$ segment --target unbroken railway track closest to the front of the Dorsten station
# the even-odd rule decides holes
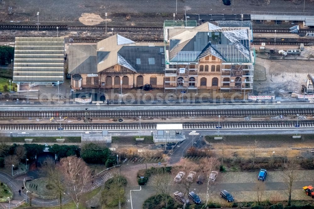
[[[134,111],[0,111],[0,117],[202,117],[202,116],[229,116],[229,115],[313,115],[314,109],[254,109],[254,110],[134,110]]]

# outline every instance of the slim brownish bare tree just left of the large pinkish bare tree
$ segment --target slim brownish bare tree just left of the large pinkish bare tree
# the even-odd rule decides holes
[[[42,163],[42,168],[48,177],[49,183],[52,185],[52,189],[59,196],[60,209],[62,209],[62,197],[65,193],[65,185],[63,184],[62,173],[60,168],[57,168],[54,161],[51,158],[46,158]]]

